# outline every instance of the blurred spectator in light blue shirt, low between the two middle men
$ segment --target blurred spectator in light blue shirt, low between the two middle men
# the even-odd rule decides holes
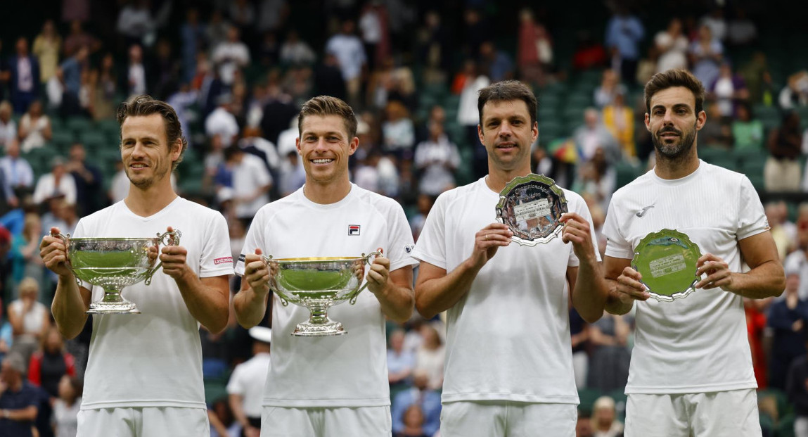
[[[415,371],[412,388],[399,392],[393,398],[390,406],[393,435],[410,435],[405,433],[408,427],[406,415],[410,414],[410,407],[413,405],[419,407],[423,416],[421,435],[435,435],[440,427],[440,393],[429,387],[429,375],[423,369]]]

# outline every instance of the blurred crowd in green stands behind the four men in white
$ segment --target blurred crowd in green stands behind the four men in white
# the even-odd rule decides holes
[[[808,191],[808,63],[784,66],[761,49],[763,9],[693,2],[651,15],[606,2],[596,35],[583,24],[570,34],[545,7],[484,0],[61,3],[38,31],[0,40],[0,357],[18,350],[19,377],[41,388],[40,435],[74,429],[90,325],[67,342],[52,329],[55,280],[38,246],[51,227],[67,234],[126,196],[114,118],[128,96],[148,93],[178,112],[191,147],[176,185],[225,214],[238,257],[255,212],[305,181],[295,138],[311,96],[355,109],[351,180],[398,199],[417,239],[440,193],[486,173],[478,90],[518,78],[539,99],[535,172],[581,193],[600,228],[614,190],[653,166],[642,85],[681,67],[707,90],[700,156],[747,173],[762,196],[789,200],[766,206],[788,288],[750,301],[747,320],[760,388],[787,399],[761,412],[772,429],[808,418],[808,206],[794,202]],[[322,15],[311,18],[313,8]],[[570,311],[579,435],[619,435],[632,317],[587,325]],[[239,423],[217,388],[252,354],[246,331],[229,326],[202,336],[219,435],[238,435]],[[394,434],[434,435],[444,325],[416,316],[388,328]],[[7,373],[4,381],[15,369]]]

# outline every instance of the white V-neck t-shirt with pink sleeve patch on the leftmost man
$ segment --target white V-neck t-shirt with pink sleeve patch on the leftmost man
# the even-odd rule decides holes
[[[187,264],[200,278],[233,273],[227,224],[218,212],[177,197],[149,217],[118,202],[78,222],[75,237],[151,237],[166,227],[182,232]],[[160,246],[162,249],[162,244]],[[87,289],[90,284],[83,283]],[[92,288],[92,300],[103,289]],[[95,315],[82,409],[206,408],[199,322],[173,278],[159,269],[151,285],[124,288],[141,314]]]

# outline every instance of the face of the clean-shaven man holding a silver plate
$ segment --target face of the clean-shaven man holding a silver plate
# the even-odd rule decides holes
[[[490,100],[482,107],[478,125],[480,142],[488,152],[489,169],[503,171],[530,168],[530,145],[539,134],[537,123],[530,123],[528,105],[523,100]]]

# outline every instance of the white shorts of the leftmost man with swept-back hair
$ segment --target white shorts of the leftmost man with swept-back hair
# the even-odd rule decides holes
[[[76,437],[209,437],[208,410],[143,407],[82,409]]]

